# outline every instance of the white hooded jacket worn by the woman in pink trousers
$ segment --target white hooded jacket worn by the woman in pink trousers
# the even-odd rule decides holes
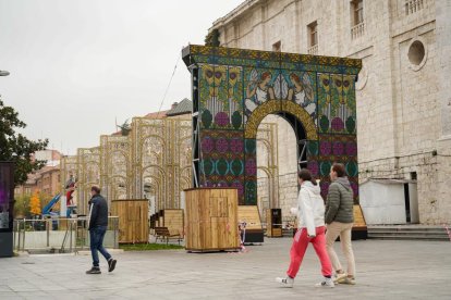
[[[325,201],[319,185],[304,182],[297,197],[298,228],[307,228],[309,236],[316,235],[316,227],[325,226]]]

